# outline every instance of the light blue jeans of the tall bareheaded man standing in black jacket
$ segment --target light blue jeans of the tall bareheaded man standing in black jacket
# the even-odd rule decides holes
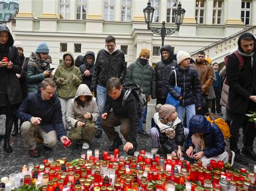
[[[100,126],[100,122],[102,121],[102,114],[105,107],[106,95],[107,95],[106,87],[97,85],[96,101],[97,101],[98,110],[99,110],[99,117],[96,122],[96,125],[100,130],[102,130],[102,127]]]

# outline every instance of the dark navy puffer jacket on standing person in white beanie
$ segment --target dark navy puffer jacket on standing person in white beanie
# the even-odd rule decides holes
[[[180,65],[175,69],[177,73],[177,86],[181,87],[181,93],[177,92],[174,88],[176,84],[175,74],[172,71],[169,80],[167,82],[167,91],[176,99],[182,96],[179,102],[181,106],[187,106],[195,104],[195,98],[197,106],[202,106],[202,93],[201,85],[198,78],[197,71],[187,67],[187,69],[182,69]]]

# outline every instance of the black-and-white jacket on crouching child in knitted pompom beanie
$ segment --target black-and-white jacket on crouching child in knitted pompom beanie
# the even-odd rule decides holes
[[[171,127],[160,122],[161,119],[159,118],[158,112],[154,114],[153,119],[156,124],[156,128],[159,131],[160,145],[166,153],[171,153],[174,149],[169,142],[169,137],[165,134],[165,131],[167,130],[174,130],[175,135],[173,139],[175,139],[177,146],[183,146],[185,140],[184,127],[178,117],[173,121]]]

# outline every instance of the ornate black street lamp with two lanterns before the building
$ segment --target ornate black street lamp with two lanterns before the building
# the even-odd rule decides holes
[[[178,8],[174,11],[174,19],[177,28],[166,29],[165,22],[163,21],[163,25],[161,28],[151,28],[150,23],[152,23],[154,8],[151,6],[150,1],[147,3],[147,7],[143,9],[145,23],[147,23],[147,30],[151,30],[156,35],[160,35],[162,39],[162,46],[164,46],[164,38],[167,35],[172,35],[174,32],[179,31],[180,25],[183,23],[185,9],[181,8],[181,4],[178,4]]]

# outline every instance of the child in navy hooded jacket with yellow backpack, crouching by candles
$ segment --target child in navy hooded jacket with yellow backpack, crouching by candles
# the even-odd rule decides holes
[[[188,157],[202,161],[204,167],[209,166],[212,159],[228,162],[223,133],[216,124],[211,124],[203,115],[194,115],[188,128]],[[196,154],[193,154],[194,149]]]

